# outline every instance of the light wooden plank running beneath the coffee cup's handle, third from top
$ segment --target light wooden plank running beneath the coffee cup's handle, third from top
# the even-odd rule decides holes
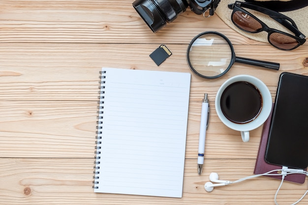
[[[0,101],[0,156],[93,157],[95,101]],[[240,133],[226,127],[211,104],[206,158],[256,158],[262,127],[243,143]],[[201,102],[190,102],[186,158],[196,159]]]

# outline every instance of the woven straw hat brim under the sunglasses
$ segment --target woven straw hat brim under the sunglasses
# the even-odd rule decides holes
[[[247,33],[241,29],[238,29],[231,21],[231,14],[232,9],[228,8],[228,4],[234,3],[235,0],[221,0],[218,4],[218,7],[216,8],[215,13],[219,16],[219,18],[226,23],[230,28],[236,30],[237,32],[241,33],[242,35],[246,36],[247,38],[265,42],[267,43],[267,33],[266,32],[259,32],[259,33]],[[248,9],[247,9],[248,10]],[[261,21],[263,21],[266,25],[268,25],[270,28],[282,30],[288,33],[293,34],[288,29],[283,27],[281,24],[279,24],[277,21],[273,20],[271,17],[267,16],[266,14],[262,14],[260,12],[256,12],[253,10],[248,10],[253,15],[258,17]],[[282,14],[288,16],[291,18],[295,23],[298,29],[305,34],[305,36],[308,36],[308,27],[307,27],[307,19],[308,19],[308,6],[304,8],[300,8],[293,11],[288,12],[281,12]]]

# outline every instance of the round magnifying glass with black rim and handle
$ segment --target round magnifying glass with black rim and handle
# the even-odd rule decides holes
[[[246,59],[235,56],[231,41],[216,31],[200,33],[187,48],[190,69],[203,78],[218,78],[231,68],[234,62],[279,70],[279,63]]]

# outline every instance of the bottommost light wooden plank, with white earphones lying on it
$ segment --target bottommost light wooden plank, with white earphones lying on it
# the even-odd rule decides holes
[[[211,172],[222,180],[237,180],[253,174],[254,160],[206,160],[201,176],[194,160],[185,161],[183,198],[146,197],[93,193],[93,159],[0,158],[0,205],[273,205],[280,183],[265,176],[241,183],[216,187],[207,193],[204,184]],[[224,166],[222,166],[224,165]],[[227,169],[225,169],[227,168]],[[293,203],[307,189],[307,184],[284,182],[278,193],[280,205]],[[292,200],[290,200],[292,199]],[[308,203],[306,197],[299,205]]]

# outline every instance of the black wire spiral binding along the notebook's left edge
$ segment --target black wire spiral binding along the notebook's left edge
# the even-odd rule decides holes
[[[100,136],[101,134],[102,134],[102,128],[103,128],[103,126],[102,126],[102,124],[103,124],[103,114],[104,114],[104,111],[103,111],[103,109],[104,109],[104,106],[103,106],[103,104],[104,104],[104,98],[105,98],[105,96],[103,96],[103,94],[105,93],[105,91],[104,91],[104,89],[105,89],[105,86],[104,86],[104,84],[105,84],[105,81],[103,81],[102,79],[105,79],[106,78],[106,76],[104,76],[103,74],[105,74],[106,73],[106,71],[100,71],[99,72],[100,73],[100,76],[99,76],[99,78],[100,78],[100,81],[99,81],[99,83],[100,83],[100,86],[98,87],[99,88],[99,91],[98,91],[98,93],[99,93],[99,96],[98,96],[98,99],[99,99],[99,101],[97,102],[98,103],[98,106],[97,106],[97,109],[98,109],[98,111],[97,111],[97,121],[96,121],[96,123],[97,123],[97,126],[96,126],[96,129],[97,129],[97,131],[96,131],[96,142],[95,142],[95,144],[96,144],[96,146],[95,146],[95,154],[96,154],[96,156],[94,156],[94,159],[95,159],[95,161],[94,161],[94,167],[93,167],[93,169],[94,169],[94,171],[93,171],[93,174],[94,174],[94,176],[93,176],[93,181],[92,181],[92,183],[94,184],[93,186],[92,186],[92,188],[93,189],[98,189],[98,186],[97,186],[97,184],[99,183],[98,181],[96,181],[96,179],[99,179],[99,176],[95,176],[95,175],[98,175],[99,174],[99,164],[100,164],[100,161],[99,161],[99,159],[100,159],[100,156],[98,156],[101,152],[99,151],[99,149],[101,149],[101,139],[102,139],[102,137]]]

